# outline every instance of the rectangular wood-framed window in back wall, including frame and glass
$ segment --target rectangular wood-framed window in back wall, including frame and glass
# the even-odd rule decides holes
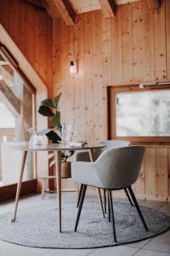
[[[170,143],[170,88],[111,89],[111,138]]]

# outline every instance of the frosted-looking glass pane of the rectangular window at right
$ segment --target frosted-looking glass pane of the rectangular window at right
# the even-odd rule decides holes
[[[116,136],[170,136],[170,91],[117,93]]]

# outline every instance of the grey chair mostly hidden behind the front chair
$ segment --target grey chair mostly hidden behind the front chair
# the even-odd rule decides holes
[[[130,142],[128,141],[125,141],[125,140],[104,140],[104,141],[101,141],[100,142],[101,144],[105,144],[106,147],[105,148],[96,148],[94,150],[94,157],[95,157],[95,160],[97,160],[99,158],[99,155],[101,153],[103,153],[106,149],[109,149],[109,148],[122,148],[122,147],[128,147],[130,146]],[[75,154],[75,161],[84,161],[84,162],[90,162],[90,157],[89,157],[89,154],[88,154],[88,151],[80,151],[80,152],[77,152]],[[124,189],[125,190],[125,193],[127,195],[127,198],[131,204],[131,206],[133,206],[133,203],[131,201],[131,198],[130,196],[128,195],[128,191],[127,189]],[[81,197],[81,193],[82,193],[82,185],[80,186],[80,193],[78,195],[78,201],[77,201],[77,207],[79,205],[79,202],[80,202],[80,197]],[[100,193],[100,190],[99,190],[99,198],[100,198],[100,201],[101,201],[101,193]],[[103,212],[103,215],[105,217],[105,213],[106,212],[106,195],[105,195],[105,189],[104,189],[104,209],[103,209],[103,205],[101,205],[102,207],[102,212]],[[108,196],[108,207],[109,207],[109,196]],[[104,213],[105,212],[105,213]],[[110,213],[110,211],[109,211]],[[109,214],[109,219],[111,220],[111,216]]]

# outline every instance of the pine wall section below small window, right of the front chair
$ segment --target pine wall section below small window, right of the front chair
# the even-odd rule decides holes
[[[142,198],[170,201],[170,148],[147,147],[135,193]]]

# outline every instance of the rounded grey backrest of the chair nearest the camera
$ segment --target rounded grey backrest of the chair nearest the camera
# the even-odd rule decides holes
[[[95,162],[102,187],[121,189],[135,183],[139,177],[144,151],[143,146],[105,150]]]

